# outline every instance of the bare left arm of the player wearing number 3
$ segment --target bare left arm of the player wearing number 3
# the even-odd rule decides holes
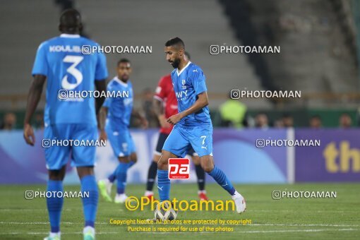
[[[26,105],[25,120],[24,120],[24,138],[25,142],[29,145],[35,144],[34,131],[30,125],[32,114],[34,114],[37,104],[39,104],[42,94],[42,88],[44,88],[46,76],[36,74],[34,80],[32,80],[31,87],[28,95],[28,104]]]

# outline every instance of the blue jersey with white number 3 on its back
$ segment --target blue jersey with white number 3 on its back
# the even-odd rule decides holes
[[[59,90],[93,91],[95,80],[107,78],[104,54],[82,53],[83,47],[92,46],[98,44],[80,35],[61,34],[37,49],[32,76],[47,76],[45,126],[96,124],[94,97],[59,98]]]

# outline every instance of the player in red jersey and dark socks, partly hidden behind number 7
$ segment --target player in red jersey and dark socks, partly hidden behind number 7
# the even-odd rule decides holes
[[[190,60],[189,54],[185,53],[186,57]],[[152,188],[154,186],[155,177],[157,175],[157,162],[160,160],[162,146],[167,140],[170,132],[172,131],[173,125],[167,122],[167,119],[170,116],[173,116],[178,113],[177,100],[172,86],[172,78],[169,75],[164,76],[160,79],[159,84],[157,85],[156,92],[154,95],[154,108],[157,113],[157,118],[160,121],[160,136],[157,140],[157,146],[154,153],[153,161],[150,164],[148,172],[148,182],[146,184],[145,196],[148,198],[153,198],[154,193]],[[198,176],[198,196],[200,200],[208,200],[205,191],[205,172],[200,166],[200,158],[194,152],[193,148],[188,150],[188,155],[191,155],[191,158],[195,164],[196,176]]]

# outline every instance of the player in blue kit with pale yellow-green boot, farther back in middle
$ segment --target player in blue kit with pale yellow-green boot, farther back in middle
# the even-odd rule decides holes
[[[128,129],[131,114],[140,119],[144,128],[148,126],[148,121],[133,110],[133,85],[129,80],[132,71],[131,62],[128,59],[120,59],[116,70],[117,76],[109,82],[107,91],[124,94],[119,97],[108,97],[105,100],[100,111],[100,139],[109,138],[119,165],[113,174],[110,174],[107,179],[100,180],[97,184],[102,197],[111,202],[112,183],[116,179],[114,203],[125,203],[128,198],[125,194],[127,171],[137,161],[135,143]],[[125,96],[126,92],[128,97]],[[105,119],[107,119],[106,124]]]

